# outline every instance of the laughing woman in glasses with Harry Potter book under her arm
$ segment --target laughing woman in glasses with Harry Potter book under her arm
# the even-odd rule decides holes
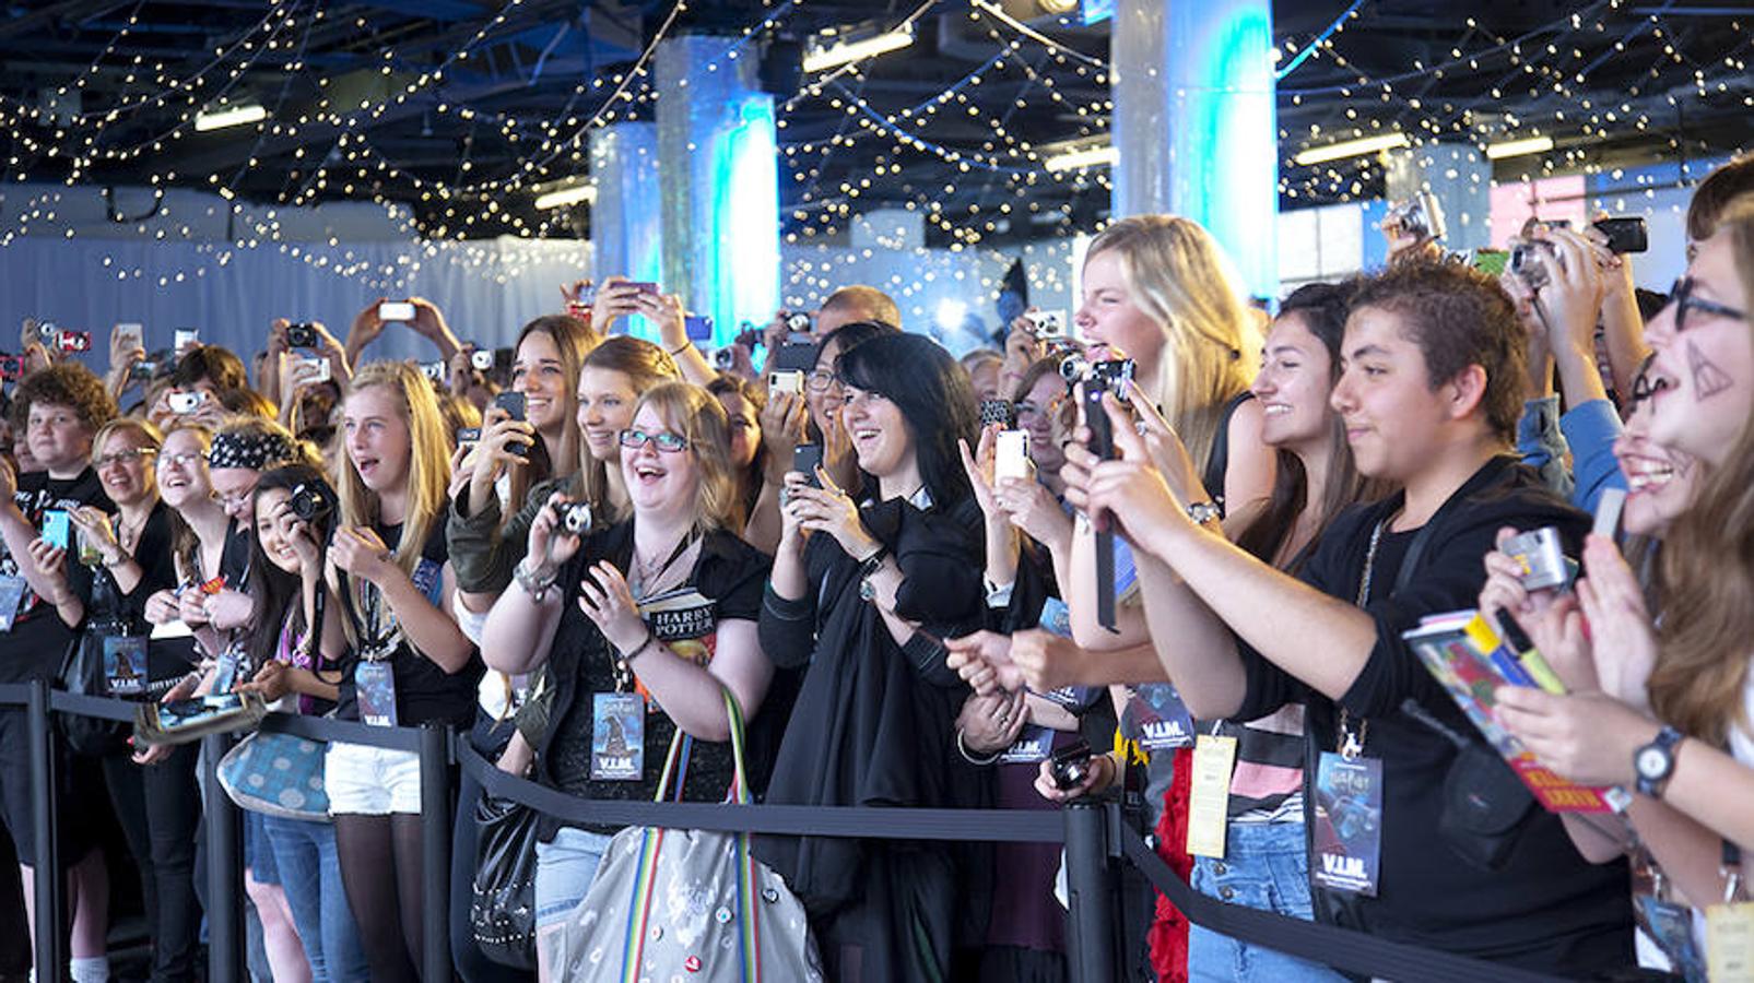
[[[730,428],[716,396],[686,382],[647,389],[617,447],[630,517],[581,536],[560,520],[570,499],[556,492],[530,527],[517,587],[488,615],[482,647],[495,669],[547,673],[554,697],[537,748],[544,785],[651,799],[681,732],[691,738],[682,797],[719,801],[733,773],[723,694],[754,718],[774,673],[756,640],[768,559],[738,538]],[[633,724],[603,710],[621,699],[635,704]],[[614,764],[593,753],[598,736],[609,739],[609,720],[628,752]],[[538,971],[560,979],[572,967],[556,965],[554,953],[568,948],[563,930],[577,922],[572,913],[616,827],[542,824]]]

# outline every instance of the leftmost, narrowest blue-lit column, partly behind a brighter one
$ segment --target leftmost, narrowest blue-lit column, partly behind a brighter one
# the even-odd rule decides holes
[[[663,216],[658,193],[658,126],[614,123],[591,131],[591,279],[663,275]]]

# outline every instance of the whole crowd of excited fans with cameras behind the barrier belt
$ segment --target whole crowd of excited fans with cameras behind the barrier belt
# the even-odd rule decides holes
[[[1130,217],[1091,242],[1072,326],[1024,315],[961,359],[861,286],[703,352],[681,298],[623,277],[568,284],[498,356],[421,298],[346,340],[275,321],[251,370],[118,328],[98,377],[26,335],[0,682],[65,683],[95,645],[114,696],[446,724],[586,799],[1117,797],[1226,902],[1703,979],[1754,845],[1754,163],[1687,223],[1666,298],[1593,230],[1531,224],[1540,275],[1398,238],[1268,317],[1198,224]],[[435,363],[370,357],[403,328]],[[1589,533],[1622,492],[1624,534]],[[1535,529],[1573,582],[1529,583],[1510,538]],[[1500,687],[1496,725],[1612,811],[1542,808],[1403,640],[1468,608],[1559,680]],[[12,923],[40,915],[28,746],[0,708]],[[196,978],[198,745],[56,753],[72,978],[109,978],[118,827],[151,978]],[[321,776],[319,815],[244,813],[263,978],[417,979],[433,904],[460,978],[530,978],[470,922],[475,781],[442,899],[417,757],[330,743]],[[572,974],[617,832],[538,820],[537,978]],[[1068,976],[1058,846],[759,836],[754,857],[828,979]],[[1130,979],[1342,978],[1121,894]]]

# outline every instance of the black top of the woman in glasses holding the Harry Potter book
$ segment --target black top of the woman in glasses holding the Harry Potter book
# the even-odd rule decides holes
[[[658,776],[675,738],[675,724],[656,701],[647,699],[644,778],[591,780],[593,697],[600,692],[616,692],[616,652],[603,633],[579,610],[579,580],[588,566],[600,561],[628,569],[631,555],[633,520],[626,520],[588,536],[579,554],[560,573],[567,594],[547,662],[554,708],[538,760],[544,783],[586,799],[649,801],[658,792]],[[670,652],[705,666],[717,650],[719,624],[747,620],[752,627],[761,617],[761,591],[770,566],[766,554],[737,536],[724,531],[709,533],[682,587],[665,591],[642,605],[645,624],[670,647]],[[637,661],[633,668],[637,676]],[[728,741],[693,741],[682,797],[695,803],[723,799],[733,769]]]

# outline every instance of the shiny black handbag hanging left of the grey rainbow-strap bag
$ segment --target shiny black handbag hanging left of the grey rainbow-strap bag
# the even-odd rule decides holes
[[[475,883],[468,923],[481,953],[514,969],[537,967],[535,810],[482,796],[475,803]]]

